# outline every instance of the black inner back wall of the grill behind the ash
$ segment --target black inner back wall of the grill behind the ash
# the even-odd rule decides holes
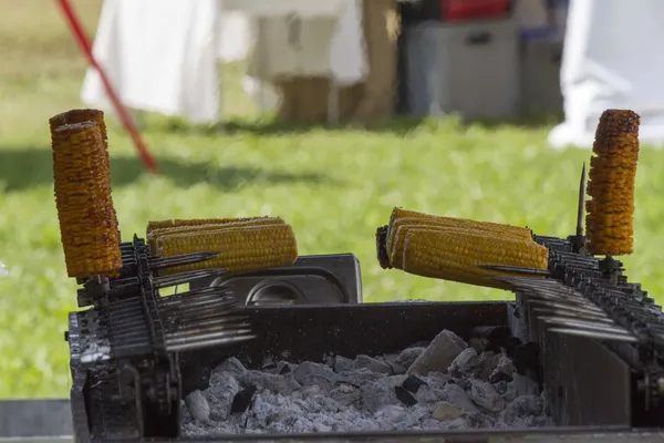
[[[430,341],[444,329],[467,339],[475,327],[508,324],[507,303],[498,301],[266,306],[248,308],[247,313],[255,340],[184,353],[180,362],[216,365],[234,356],[256,369],[277,356],[293,362],[375,356]]]

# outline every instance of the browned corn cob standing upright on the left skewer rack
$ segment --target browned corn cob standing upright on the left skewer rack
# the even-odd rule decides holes
[[[120,230],[111,196],[103,114],[64,113],[50,120],[55,206],[70,277],[116,276]],[[75,122],[75,123],[69,123]]]

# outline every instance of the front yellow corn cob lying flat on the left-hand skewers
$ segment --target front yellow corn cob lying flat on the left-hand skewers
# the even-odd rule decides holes
[[[220,227],[215,230],[165,235],[157,239],[157,254],[162,257],[191,253],[219,255],[200,264],[169,268],[167,274],[205,268],[247,272],[292,265],[298,258],[298,243],[293,229],[286,224]]]

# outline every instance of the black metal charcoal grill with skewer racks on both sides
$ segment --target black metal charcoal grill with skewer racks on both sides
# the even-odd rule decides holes
[[[627,123],[633,131],[633,117]],[[101,163],[107,168],[107,162]],[[77,292],[79,306],[91,308],[71,312],[65,333],[75,440],[488,443],[585,441],[589,435],[595,441],[663,440],[662,309],[639,284],[627,280],[620,261],[609,256],[598,259],[585,250],[584,181],[583,173],[575,235],[532,236],[549,251],[547,270],[483,266],[512,276],[500,278],[516,293],[510,302],[364,305],[359,265],[351,255],[302,257],[292,267],[235,277],[214,269],[164,276],[160,269],[198,264],[216,254],[159,257],[134,236],[118,245],[118,275],[79,280],[84,285]],[[385,235],[386,227],[378,228],[382,265]],[[329,260],[329,266],[321,267],[321,260]],[[159,293],[184,284],[190,287],[186,293]],[[467,339],[477,328],[507,330],[516,337],[509,338],[515,356],[530,352],[521,363],[512,359],[517,372],[543,385],[559,427],[179,437],[181,400],[205,389],[211,368],[228,357],[256,369],[279,357],[293,362],[353,358],[395,352],[432,340],[444,329]],[[37,429],[12,427],[21,420],[15,415],[21,408],[9,405],[13,418],[8,421],[8,414],[0,422],[2,433],[34,436]]]

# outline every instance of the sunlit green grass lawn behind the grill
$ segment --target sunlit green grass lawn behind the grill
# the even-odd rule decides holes
[[[0,278],[1,398],[68,394],[62,331],[76,286],[66,278],[60,246],[46,122],[80,105],[85,63],[53,4],[0,0],[0,260],[11,271]],[[94,29],[98,1],[77,4]],[[238,92],[238,66],[228,73],[227,107],[242,110],[247,123],[252,107]],[[110,125],[114,202],[126,237],[143,233],[151,219],[280,215],[297,230],[301,254],[356,254],[369,301],[508,297],[382,270],[375,227],[398,205],[568,235],[589,155],[548,150],[550,126],[447,120],[286,132],[238,124],[225,135],[157,116],[146,124],[158,176],[144,173],[127,136]],[[664,289],[658,155],[644,151],[641,157],[636,254],[625,260],[630,276],[655,296]]]

